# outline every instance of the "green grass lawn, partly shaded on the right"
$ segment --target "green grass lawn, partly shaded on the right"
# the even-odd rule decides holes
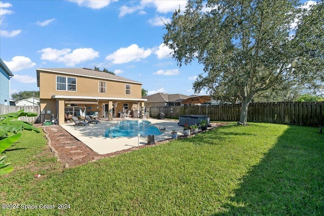
[[[2,203],[37,209],[4,214],[324,215],[324,135],[316,127],[231,124],[63,172],[42,136],[23,134],[6,153],[14,171],[0,179]]]

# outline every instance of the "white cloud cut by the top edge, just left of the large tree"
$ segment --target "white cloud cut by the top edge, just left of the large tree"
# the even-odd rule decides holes
[[[128,7],[128,6],[122,6],[120,7],[119,17],[123,17],[127,14],[132,14],[137,11],[143,11],[147,7],[153,7],[156,9],[156,12],[158,13],[169,13],[174,12],[174,10],[178,10],[179,6],[181,9],[184,9],[187,4],[187,1],[184,0],[157,0],[157,1],[148,1],[148,0],[142,0],[139,5]],[[141,12],[142,13],[142,12]]]

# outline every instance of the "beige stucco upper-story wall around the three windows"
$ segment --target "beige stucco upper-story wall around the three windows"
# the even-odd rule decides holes
[[[76,91],[56,90],[56,77],[65,76],[76,78]],[[99,93],[99,81],[106,82],[106,93]],[[125,84],[131,85],[131,95],[126,95]],[[125,83],[115,80],[104,80],[99,78],[62,75],[42,72],[39,74],[40,98],[50,99],[52,95],[65,96],[91,96],[91,97],[113,97],[113,98],[142,98],[142,86],[137,83]]]

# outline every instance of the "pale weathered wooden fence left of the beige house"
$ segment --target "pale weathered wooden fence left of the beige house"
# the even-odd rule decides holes
[[[37,113],[36,117],[26,117],[22,116],[19,117],[18,120],[27,121],[30,123],[39,123],[41,120],[39,119],[39,114],[41,111],[39,110],[39,106],[7,106],[0,104],[0,115],[11,113],[11,112],[18,112],[19,110],[24,109],[24,112],[34,112]]]

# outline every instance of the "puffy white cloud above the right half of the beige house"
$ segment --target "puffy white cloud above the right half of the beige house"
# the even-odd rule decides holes
[[[139,48],[136,44],[132,44],[127,48],[120,48],[106,56],[106,60],[112,61],[113,64],[123,64],[131,61],[140,61],[151,55],[153,49]]]

